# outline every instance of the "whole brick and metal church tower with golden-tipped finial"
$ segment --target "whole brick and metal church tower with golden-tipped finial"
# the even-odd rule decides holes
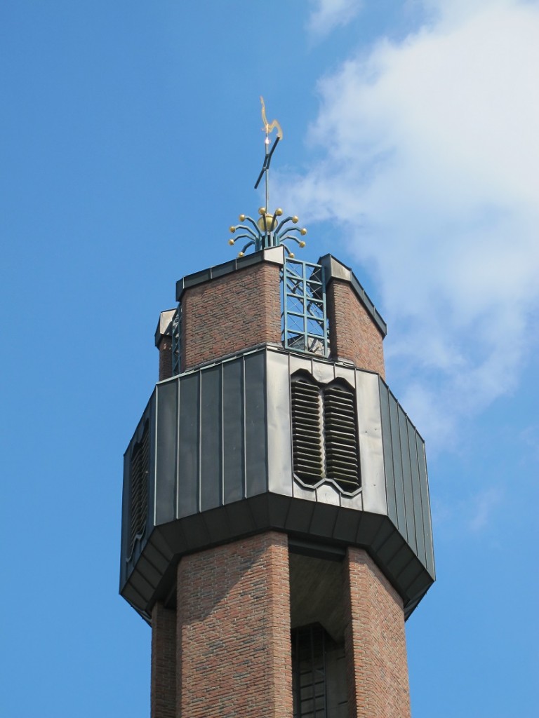
[[[160,315],[120,570],[152,627],[152,718],[410,716],[405,620],[435,577],[424,442],[385,383],[384,320],[338,259],[295,257],[297,222],[240,215],[239,256]]]

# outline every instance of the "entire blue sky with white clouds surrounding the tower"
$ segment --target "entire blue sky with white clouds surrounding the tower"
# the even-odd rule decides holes
[[[3,716],[149,716],[122,454],[175,281],[262,203],[262,94],[270,205],[354,267],[427,442],[413,716],[535,717],[538,37],[537,1],[1,6]]]

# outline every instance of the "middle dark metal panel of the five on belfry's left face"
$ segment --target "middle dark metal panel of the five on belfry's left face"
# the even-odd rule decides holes
[[[201,511],[221,505],[221,365],[201,371]]]

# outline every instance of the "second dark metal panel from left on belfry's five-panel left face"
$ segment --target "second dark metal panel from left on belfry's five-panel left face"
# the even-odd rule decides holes
[[[198,511],[200,372],[180,378],[178,518]]]

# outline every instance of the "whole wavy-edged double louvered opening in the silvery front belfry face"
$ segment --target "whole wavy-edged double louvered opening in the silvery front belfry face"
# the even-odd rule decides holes
[[[319,385],[305,372],[292,376],[292,460],[313,485],[333,479],[344,491],[361,485],[356,394],[344,382]]]

